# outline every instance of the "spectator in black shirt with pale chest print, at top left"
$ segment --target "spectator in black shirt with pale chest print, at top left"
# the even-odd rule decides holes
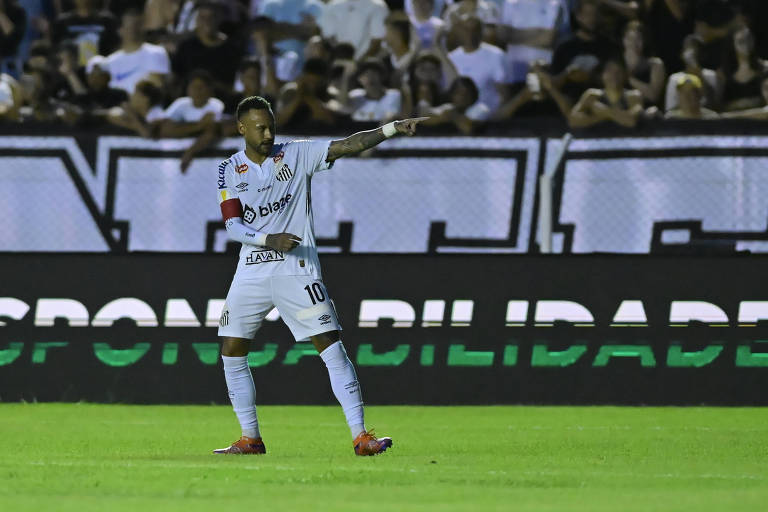
[[[94,55],[107,55],[117,47],[117,20],[100,7],[100,0],[74,0],[74,9],[53,24],[53,42],[74,41],[80,66]]]

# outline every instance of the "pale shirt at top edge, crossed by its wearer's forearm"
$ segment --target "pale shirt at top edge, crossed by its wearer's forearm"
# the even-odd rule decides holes
[[[520,29],[555,30],[565,16],[563,0],[506,0],[501,10],[501,25]],[[554,44],[554,38],[553,38]],[[507,69],[512,82],[525,81],[534,60],[552,61],[553,48],[523,44],[507,45]]]

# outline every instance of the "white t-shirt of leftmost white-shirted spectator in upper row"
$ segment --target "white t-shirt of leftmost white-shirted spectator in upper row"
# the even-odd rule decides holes
[[[156,44],[144,43],[138,50],[126,53],[118,50],[107,56],[104,66],[112,79],[110,87],[122,89],[128,94],[136,84],[152,73],[167,75],[171,72],[171,61],[165,48]]]

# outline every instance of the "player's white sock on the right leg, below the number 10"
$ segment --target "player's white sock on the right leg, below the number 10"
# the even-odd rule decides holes
[[[320,357],[328,367],[328,376],[331,378],[331,389],[336,395],[336,400],[341,404],[344,415],[347,417],[347,425],[352,433],[352,438],[365,430],[363,421],[363,395],[360,392],[360,383],[357,382],[357,374],[352,361],[347,357],[347,351],[341,341],[337,341],[320,353]]]

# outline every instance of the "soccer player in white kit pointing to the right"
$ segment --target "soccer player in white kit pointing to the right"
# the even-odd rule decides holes
[[[377,455],[392,439],[365,429],[355,368],[341,342],[339,319],[320,274],[312,219],[312,176],[336,159],[372,148],[394,135],[413,135],[426,118],[393,121],[342,140],[275,144],[275,116],[260,96],[237,106],[245,150],[219,165],[218,196],[229,238],[242,242],[240,260],[219,320],[221,358],[242,437],[221,454],[260,454],[266,448],[256,416],[248,342],[272,307],[296,341],[311,340],[328,368],[357,455]]]

